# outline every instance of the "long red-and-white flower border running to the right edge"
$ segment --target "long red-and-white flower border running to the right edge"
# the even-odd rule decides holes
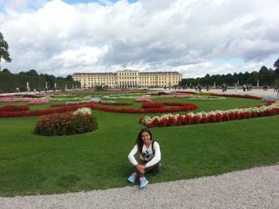
[[[146,125],[148,128],[152,128],[242,120],[251,117],[265,117],[269,115],[279,115],[279,102],[272,101],[261,107],[230,109],[227,111],[202,111],[200,113],[187,113],[186,115],[165,114],[155,117],[145,116],[144,118],[140,118],[139,122]]]

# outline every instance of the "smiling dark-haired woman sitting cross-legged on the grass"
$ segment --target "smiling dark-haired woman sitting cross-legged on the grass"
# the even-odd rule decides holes
[[[139,152],[140,155],[135,156]],[[152,141],[152,134],[148,128],[143,128],[137,136],[135,147],[130,152],[129,161],[135,166],[135,172],[128,178],[129,182],[135,182],[139,177],[139,188],[148,184],[144,174],[146,172],[155,173],[160,169],[161,151],[159,143]]]

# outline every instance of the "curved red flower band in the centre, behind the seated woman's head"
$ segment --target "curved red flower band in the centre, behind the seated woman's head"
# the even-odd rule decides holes
[[[189,111],[198,108],[196,104],[186,104],[186,103],[179,103],[179,102],[163,102],[162,104],[165,106],[178,106],[178,107],[171,107],[168,109],[165,109],[163,107],[149,108],[149,109],[131,109],[131,108],[116,109],[113,107],[97,106],[94,103],[92,104],[89,103],[86,107],[90,107],[90,109],[113,112],[113,113],[173,113],[173,112]]]

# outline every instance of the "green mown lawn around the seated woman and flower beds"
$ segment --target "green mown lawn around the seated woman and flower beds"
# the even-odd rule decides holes
[[[118,100],[131,102],[133,100]],[[189,102],[197,111],[254,107],[260,100],[226,98]],[[54,103],[54,102],[52,102]],[[62,103],[56,102],[55,103]],[[139,108],[142,103],[133,102]],[[6,103],[0,103],[0,106]],[[20,104],[20,103],[18,103]],[[24,103],[21,103],[24,104]],[[49,104],[32,106],[47,109]],[[38,117],[0,118],[0,196],[65,193],[132,185],[128,154],[133,148],[141,114],[93,111],[99,129],[82,135],[34,135]],[[157,114],[150,114],[157,115]],[[150,183],[196,178],[279,162],[279,116],[250,120],[152,128],[161,146],[163,168]]]

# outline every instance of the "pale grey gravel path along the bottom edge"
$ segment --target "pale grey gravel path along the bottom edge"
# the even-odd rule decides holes
[[[279,208],[279,165],[119,189],[0,197],[0,208]]]

